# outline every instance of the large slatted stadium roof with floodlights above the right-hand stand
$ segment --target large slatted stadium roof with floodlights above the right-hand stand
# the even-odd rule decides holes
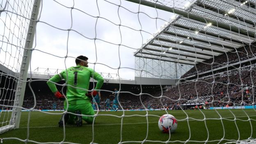
[[[176,14],[135,57],[196,64],[256,40],[256,0],[128,1]]]

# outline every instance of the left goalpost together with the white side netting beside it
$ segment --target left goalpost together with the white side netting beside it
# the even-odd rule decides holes
[[[3,0],[0,5],[0,133],[3,133],[19,126],[38,8],[33,1]]]

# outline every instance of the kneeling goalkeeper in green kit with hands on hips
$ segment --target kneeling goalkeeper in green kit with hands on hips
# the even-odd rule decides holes
[[[88,94],[88,88],[90,83],[90,78],[94,78],[97,80],[97,84],[95,89],[101,89],[103,85],[104,79],[98,73],[96,73],[93,69],[88,68],[88,58],[85,56],[78,56],[75,59],[76,66],[72,66],[61,73],[54,75],[47,82],[50,90],[54,93],[54,95],[64,101],[64,110],[67,109],[67,101],[69,103],[69,107],[67,109],[68,112],[72,112],[75,114],[84,114],[84,115],[94,115],[94,110],[91,106],[91,95],[96,96],[98,91],[91,91]],[[66,99],[65,97],[59,93],[55,83],[64,79],[66,81]],[[55,83],[54,83],[55,82]],[[79,116],[74,114],[64,114],[62,119],[59,121],[59,126],[63,126],[63,119],[68,123],[75,123],[76,126],[82,126],[82,119],[87,123],[92,123],[92,116]]]

